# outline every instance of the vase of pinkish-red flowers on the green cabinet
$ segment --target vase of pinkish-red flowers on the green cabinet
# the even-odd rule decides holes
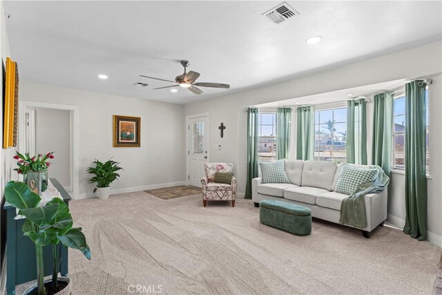
[[[23,182],[39,196],[48,189],[48,167],[52,164],[48,160],[54,158],[53,153],[53,151],[44,155],[40,153],[31,157],[29,153],[22,155],[17,151],[14,156],[18,166],[14,170],[23,174]]]

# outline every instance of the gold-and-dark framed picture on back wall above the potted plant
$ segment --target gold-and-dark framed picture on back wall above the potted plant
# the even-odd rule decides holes
[[[140,117],[113,115],[113,146],[140,146]]]

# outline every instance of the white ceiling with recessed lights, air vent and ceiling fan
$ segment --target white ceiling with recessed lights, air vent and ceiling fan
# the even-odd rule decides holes
[[[288,1],[300,15],[280,24],[262,13],[282,1],[5,1],[20,79],[187,104],[441,40],[441,1]],[[305,43],[320,35],[319,44]],[[178,93],[198,82],[231,84]],[[97,74],[109,76],[97,79]],[[133,86],[146,82],[146,88]]]

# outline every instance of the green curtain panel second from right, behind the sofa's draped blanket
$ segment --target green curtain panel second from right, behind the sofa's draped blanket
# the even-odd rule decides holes
[[[392,168],[393,97],[392,92],[374,95],[372,164],[387,175]]]

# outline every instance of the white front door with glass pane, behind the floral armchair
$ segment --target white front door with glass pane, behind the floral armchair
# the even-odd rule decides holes
[[[207,116],[189,118],[189,185],[202,187],[201,178],[204,177],[204,163],[208,161],[209,154],[209,133],[207,126]]]

